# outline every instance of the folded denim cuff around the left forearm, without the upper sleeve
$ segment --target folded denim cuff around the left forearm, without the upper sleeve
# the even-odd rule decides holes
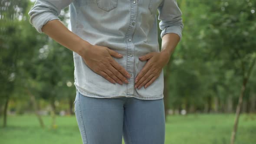
[[[54,15],[53,13],[48,13],[48,12],[44,12],[44,13],[40,13],[36,16],[33,16],[30,18],[30,23],[36,28],[36,30],[39,33],[43,33],[42,32],[42,27],[49,21],[51,20],[59,20],[59,17]]]

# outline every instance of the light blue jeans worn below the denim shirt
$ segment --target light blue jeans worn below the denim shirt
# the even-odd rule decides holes
[[[164,144],[164,101],[91,98],[78,91],[75,116],[83,144]]]

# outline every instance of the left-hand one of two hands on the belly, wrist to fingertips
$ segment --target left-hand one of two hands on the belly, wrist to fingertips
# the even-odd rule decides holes
[[[91,45],[85,49],[82,58],[85,64],[92,69],[92,71],[101,75],[109,82],[118,83],[122,85],[122,82],[128,83],[126,78],[130,78],[130,74],[112,58],[122,58],[121,54],[109,49],[105,46]]]

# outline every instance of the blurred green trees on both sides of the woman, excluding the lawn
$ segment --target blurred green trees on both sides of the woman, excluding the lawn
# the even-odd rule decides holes
[[[68,109],[75,98],[72,51],[39,34],[27,15],[30,0],[0,0],[0,109],[18,113],[56,104]],[[183,38],[165,74],[170,108],[190,112],[232,112],[243,76],[256,57],[256,2],[253,0],[178,0]],[[67,25],[68,8],[61,20]],[[160,34],[158,29],[158,34]],[[161,45],[161,38],[159,37]],[[255,67],[245,95],[246,111],[255,111]],[[231,106],[231,110],[227,107]]]

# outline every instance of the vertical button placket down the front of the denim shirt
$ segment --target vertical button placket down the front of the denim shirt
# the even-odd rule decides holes
[[[133,95],[134,93],[134,62],[135,57],[133,56],[135,52],[135,46],[132,43],[132,36],[135,32],[135,21],[137,16],[137,0],[131,0],[131,18],[128,31],[126,33],[126,41],[127,43],[127,71],[130,73],[131,78],[129,79],[129,83],[127,84],[127,95]]]

